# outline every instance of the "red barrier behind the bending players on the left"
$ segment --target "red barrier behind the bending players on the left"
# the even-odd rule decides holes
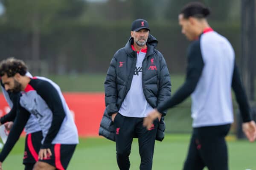
[[[79,136],[98,136],[99,124],[105,109],[104,93],[63,93],[74,119]],[[0,116],[9,112],[0,94]]]

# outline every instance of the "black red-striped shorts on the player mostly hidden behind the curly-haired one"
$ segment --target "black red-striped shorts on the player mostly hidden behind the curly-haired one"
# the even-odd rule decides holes
[[[23,164],[35,164],[38,161],[38,152],[43,139],[42,131],[26,135]]]

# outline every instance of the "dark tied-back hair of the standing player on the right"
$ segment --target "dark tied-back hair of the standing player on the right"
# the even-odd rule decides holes
[[[209,8],[200,2],[187,3],[180,11],[184,18],[196,17],[205,18],[210,14]]]

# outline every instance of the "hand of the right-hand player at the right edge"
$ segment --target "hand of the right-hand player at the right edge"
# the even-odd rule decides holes
[[[243,123],[242,125],[245,136],[249,139],[250,142],[253,142],[256,139],[256,124],[252,120],[250,122]]]

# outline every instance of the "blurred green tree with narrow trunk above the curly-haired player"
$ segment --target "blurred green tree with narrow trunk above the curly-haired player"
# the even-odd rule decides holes
[[[65,20],[74,19],[84,8],[82,0],[2,0],[4,24],[32,35],[31,57],[33,72],[38,73],[40,35]]]

